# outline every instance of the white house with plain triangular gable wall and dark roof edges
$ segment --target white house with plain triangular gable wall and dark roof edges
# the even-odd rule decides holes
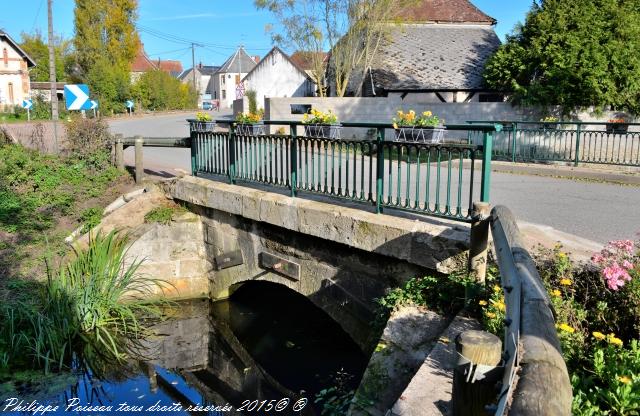
[[[277,46],[242,79],[256,91],[258,103],[267,97],[313,97],[316,84],[309,74]]]

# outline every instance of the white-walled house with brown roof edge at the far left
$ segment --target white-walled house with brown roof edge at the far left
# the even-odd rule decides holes
[[[29,68],[36,63],[7,33],[0,31],[0,111],[31,96]]]

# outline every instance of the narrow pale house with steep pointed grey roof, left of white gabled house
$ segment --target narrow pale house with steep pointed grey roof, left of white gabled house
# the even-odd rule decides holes
[[[244,96],[242,79],[257,65],[259,57],[252,58],[241,46],[225,61],[209,83],[212,99],[220,100],[220,108],[231,108],[233,100]]]

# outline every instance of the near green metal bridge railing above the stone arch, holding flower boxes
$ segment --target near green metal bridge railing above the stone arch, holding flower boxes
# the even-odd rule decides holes
[[[449,125],[447,132],[463,133],[460,143],[427,144],[385,140],[392,126],[382,123],[342,123],[375,131],[365,140],[305,137],[292,121],[265,122],[288,126],[288,135],[257,136],[236,134],[229,120],[217,123],[228,130],[191,132],[194,175],[368,203],[378,213],[396,208],[465,222],[473,220],[474,201],[489,201],[494,125]],[[465,143],[468,131],[481,134],[482,143]]]

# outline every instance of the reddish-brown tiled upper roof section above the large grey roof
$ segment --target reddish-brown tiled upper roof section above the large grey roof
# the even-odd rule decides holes
[[[396,16],[402,22],[496,24],[469,0],[421,0],[401,9]]]

